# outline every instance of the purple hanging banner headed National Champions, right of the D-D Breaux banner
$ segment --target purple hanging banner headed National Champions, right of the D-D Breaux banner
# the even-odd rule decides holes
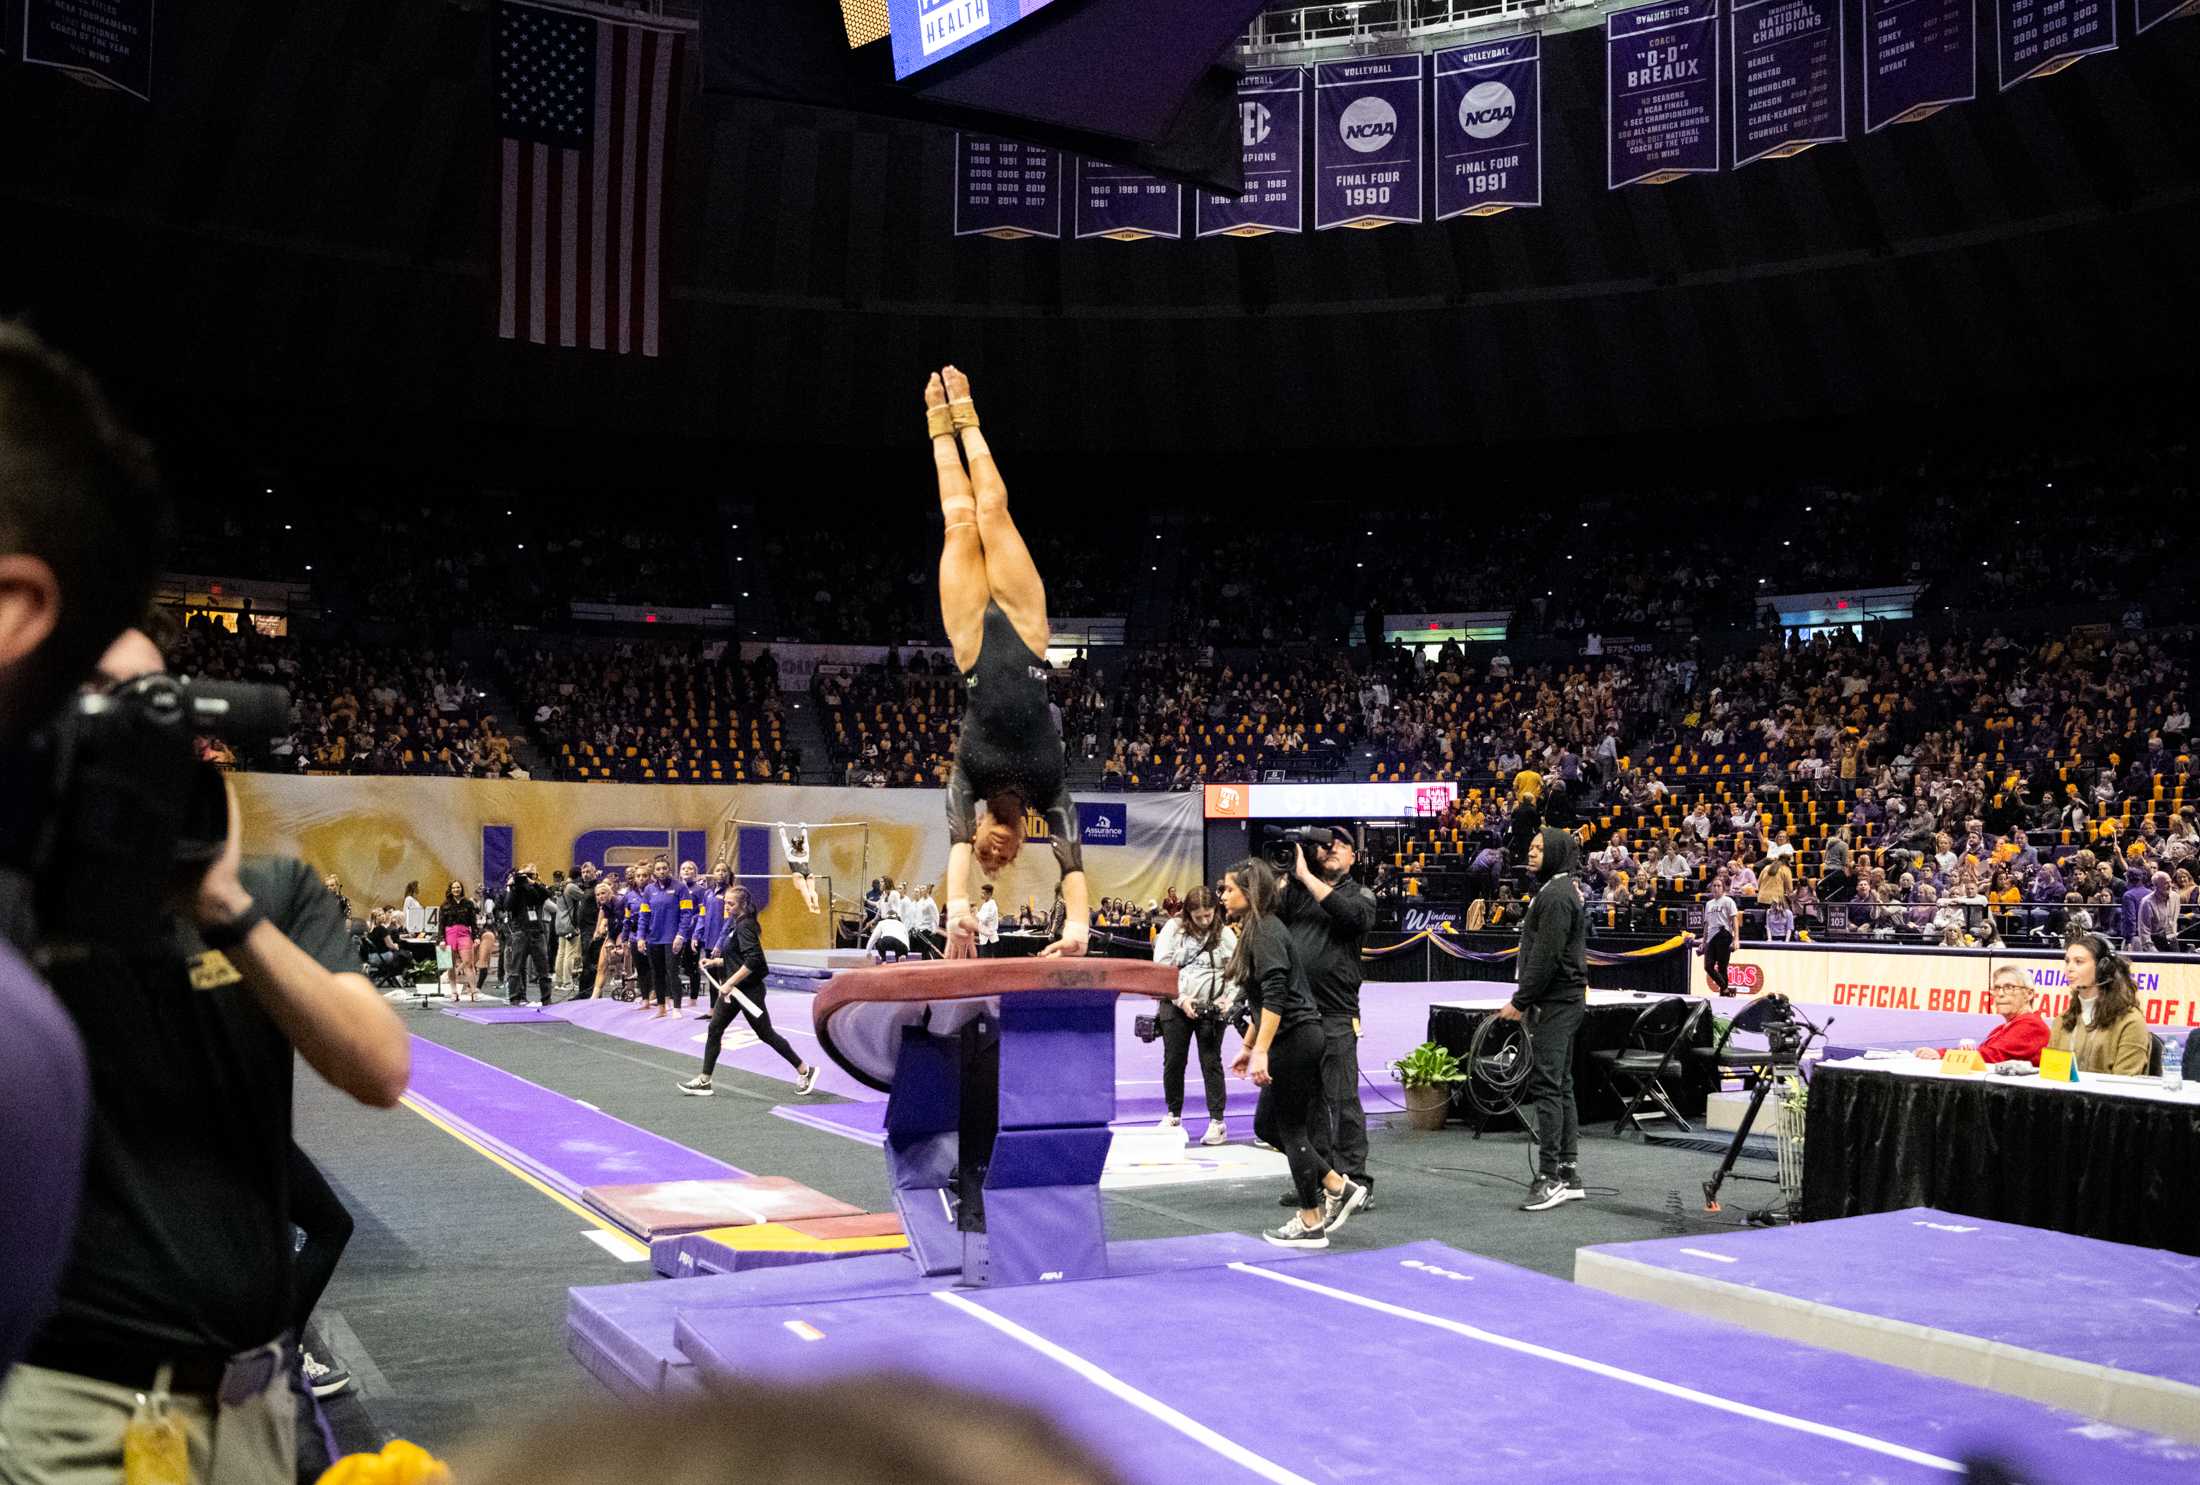
[[[1848,136],[1841,0],[1729,0],[1734,167]]]

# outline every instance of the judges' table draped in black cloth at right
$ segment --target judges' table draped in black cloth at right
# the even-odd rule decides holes
[[[2200,1254],[2200,1085],[2167,1093],[2154,1078],[2079,1076],[1822,1063],[1804,1126],[1804,1217],[1936,1206]]]

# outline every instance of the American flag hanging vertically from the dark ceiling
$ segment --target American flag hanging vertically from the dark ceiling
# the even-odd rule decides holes
[[[658,354],[680,33],[497,7],[497,334]]]

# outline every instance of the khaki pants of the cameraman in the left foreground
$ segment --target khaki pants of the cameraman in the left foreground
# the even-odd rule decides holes
[[[136,1393],[44,1366],[0,1388],[0,1485],[121,1485],[123,1428]],[[295,1485],[297,1397],[279,1349],[257,1393],[220,1404],[169,1399],[191,1454],[191,1485]]]

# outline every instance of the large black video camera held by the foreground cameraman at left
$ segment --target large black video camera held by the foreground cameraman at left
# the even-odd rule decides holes
[[[152,673],[70,697],[0,759],[0,851],[29,880],[37,939],[158,933],[169,891],[196,884],[229,840],[222,774],[194,741],[257,744],[288,726],[282,686]]]

